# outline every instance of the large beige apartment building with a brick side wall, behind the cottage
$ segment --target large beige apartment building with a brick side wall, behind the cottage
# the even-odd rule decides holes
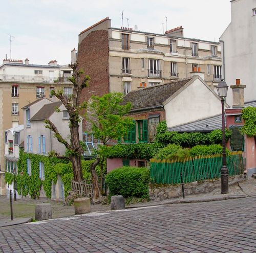
[[[127,94],[195,73],[211,88],[222,78],[218,42],[185,38],[182,27],[164,34],[113,28],[109,17],[79,34],[77,59],[91,77],[83,100],[112,91]]]

